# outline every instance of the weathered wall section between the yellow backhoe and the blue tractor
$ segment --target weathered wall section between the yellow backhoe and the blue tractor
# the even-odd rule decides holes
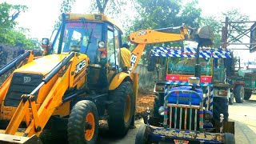
[[[147,67],[138,64],[135,70],[139,74],[138,90],[140,92],[151,92],[154,90],[154,82],[157,80],[157,72],[149,72]]]

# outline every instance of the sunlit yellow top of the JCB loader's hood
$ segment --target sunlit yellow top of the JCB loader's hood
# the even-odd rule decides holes
[[[27,63],[21,68],[15,70],[18,73],[29,73],[29,74],[42,74],[46,75],[53,70],[59,62],[62,61],[68,54],[51,54],[42,58],[35,59],[32,62]]]

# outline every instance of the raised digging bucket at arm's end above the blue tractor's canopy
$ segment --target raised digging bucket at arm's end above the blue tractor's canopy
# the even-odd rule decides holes
[[[202,26],[194,29],[190,38],[192,41],[198,42],[200,46],[211,46],[213,45],[214,34],[210,26]]]

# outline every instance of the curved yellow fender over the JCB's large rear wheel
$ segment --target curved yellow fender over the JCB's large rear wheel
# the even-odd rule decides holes
[[[112,81],[110,82],[109,90],[116,89],[124,80],[132,82],[132,79],[130,78],[130,74],[127,74],[125,72],[120,72],[114,76]]]

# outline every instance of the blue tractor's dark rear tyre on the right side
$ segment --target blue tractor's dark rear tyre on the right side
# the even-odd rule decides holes
[[[228,122],[229,120],[229,104],[228,98],[214,97],[214,121],[220,121],[220,114],[224,115],[224,121]]]

